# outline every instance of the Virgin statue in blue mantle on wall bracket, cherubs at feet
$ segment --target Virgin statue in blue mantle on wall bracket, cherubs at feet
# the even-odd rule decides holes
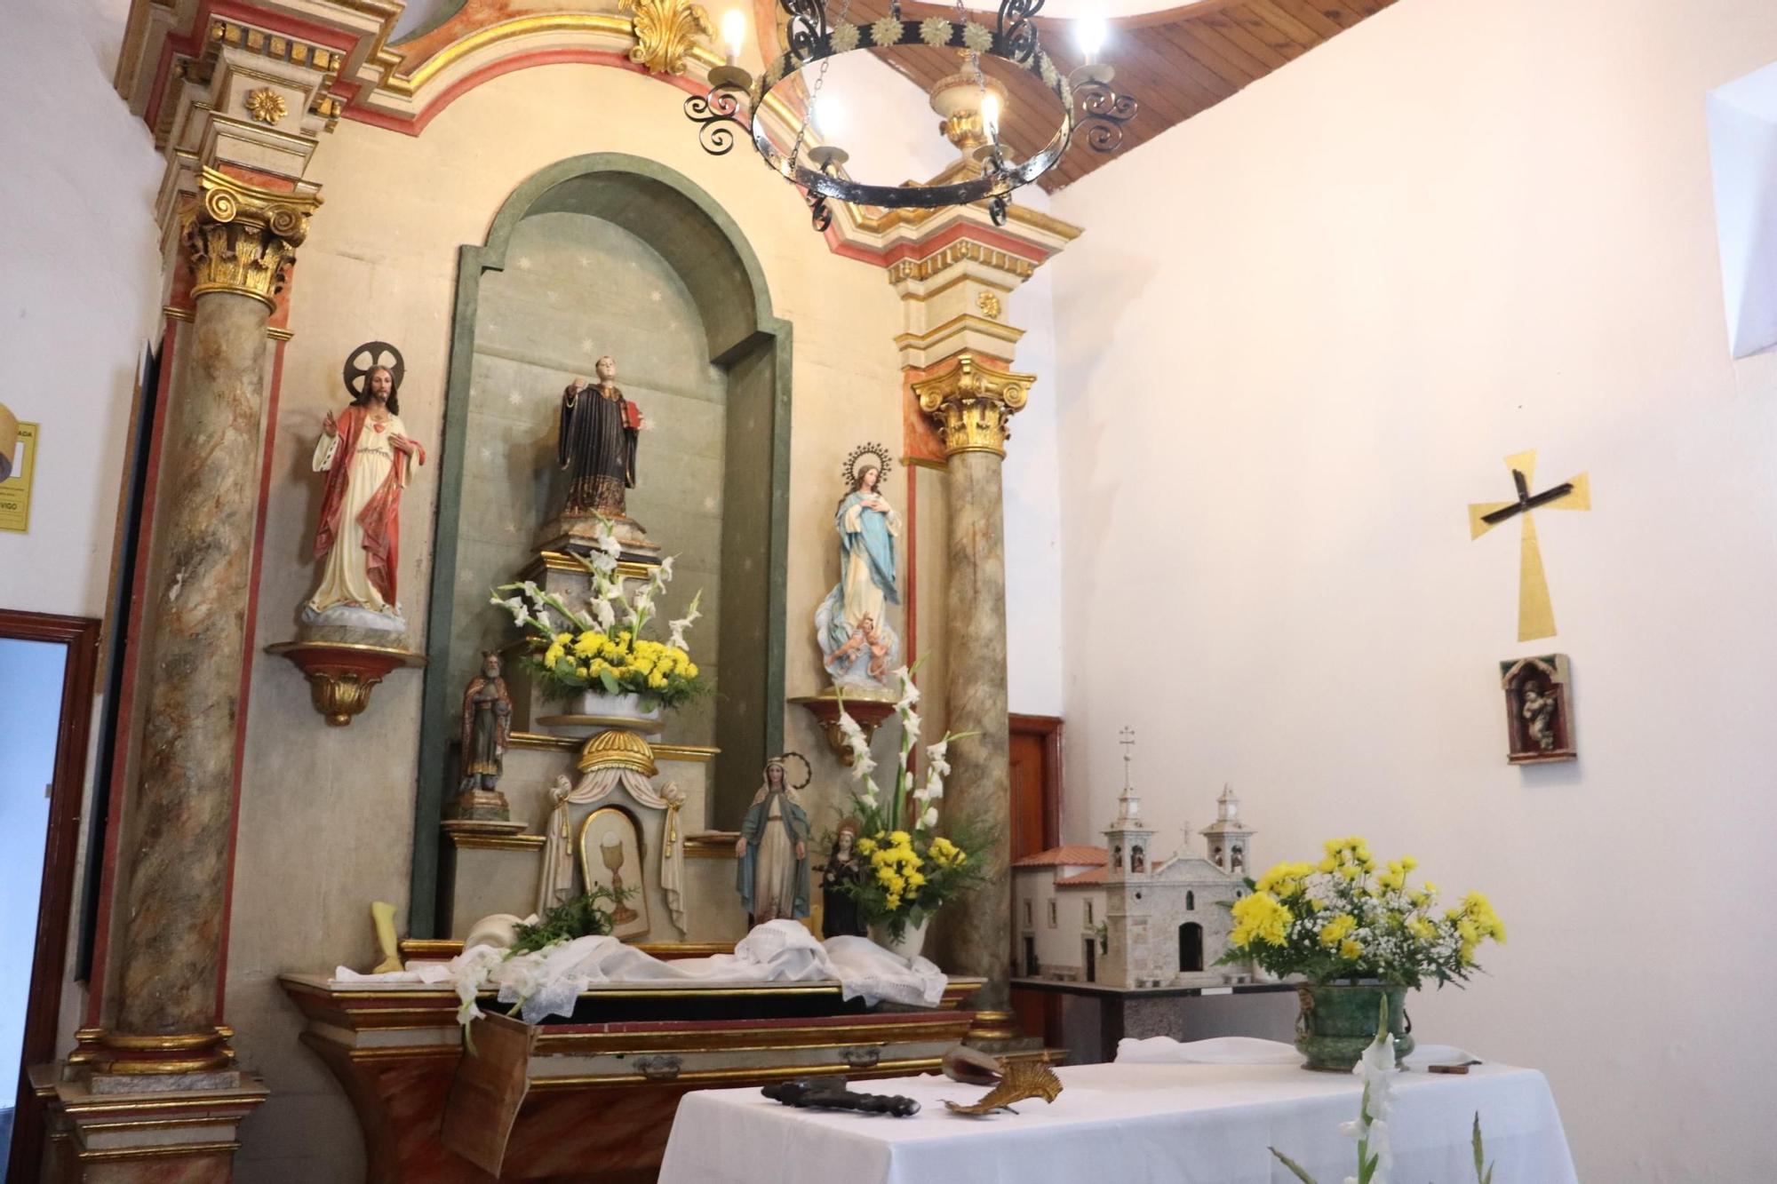
[[[881,494],[888,468],[881,444],[846,457],[846,496],[833,512],[839,583],[814,613],[823,665],[839,686],[892,690],[888,672],[901,665],[901,638],[888,624],[888,606],[901,603],[894,571],[901,516]]]

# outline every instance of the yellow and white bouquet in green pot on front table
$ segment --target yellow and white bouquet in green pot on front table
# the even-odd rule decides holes
[[[1363,839],[1329,839],[1319,864],[1278,864],[1233,903],[1221,962],[1256,962],[1271,974],[1315,983],[1375,980],[1418,988],[1462,983],[1484,940],[1505,924],[1480,892],[1438,910],[1438,885],[1407,887],[1411,855],[1377,871]]]

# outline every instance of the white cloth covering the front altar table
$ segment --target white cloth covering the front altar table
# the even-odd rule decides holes
[[[793,1109],[757,1088],[698,1090],[679,1102],[659,1184],[1294,1184],[1267,1147],[1322,1184],[1354,1175],[1356,1076],[1295,1065],[1077,1065],[1054,1104],[967,1118],[983,1086],[945,1077],[860,1081],[903,1093],[912,1118]],[[1470,1124],[1480,1111],[1496,1180],[1574,1184],[1542,1074],[1477,1065],[1466,1076],[1402,1072],[1390,1141],[1393,1180],[1471,1184]]]

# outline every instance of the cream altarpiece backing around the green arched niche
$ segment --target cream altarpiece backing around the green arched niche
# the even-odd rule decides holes
[[[343,121],[322,140],[311,174],[325,204],[297,265],[297,336],[277,411],[261,645],[291,636],[311,588],[307,548],[320,494],[309,453],[322,414],[341,402],[343,357],[368,338],[402,347],[402,418],[432,453],[403,496],[398,572],[410,640],[423,642],[457,247],[483,242],[501,203],[538,169],[624,151],[677,169],[723,204],[761,260],[773,311],[794,324],[787,690],[819,690],[807,622],[837,578],[832,473],[858,439],[899,439],[899,304],[880,268],[828,251],[782,180],[741,155],[705,156],[682,101],[682,91],[626,71],[544,66],[458,98],[423,137]],[[375,949],[370,903],[393,901],[405,916],[419,690],[416,674],[391,674],[359,722],[329,729],[283,658],[256,660],[227,1017],[243,1063],[267,1076],[272,1100],[247,1127],[245,1179],[363,1172],[354,1138],[322,1138],[355,1131],[355,1120],[322,1063],[297,1044],[299,1015],[275,976],[366,965]],[[878,759],[888,759],[892,740],[885,729]],[[785,743],[816,759],[814,825],[830,825],[841,775],[801,708],[785,713]]]

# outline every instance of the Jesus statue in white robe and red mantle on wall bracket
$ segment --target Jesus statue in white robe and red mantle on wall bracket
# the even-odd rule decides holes
[[[322,420],[313,459],[315,471],[327,475],[315,532],[322,581],[304,606],[304,624],[407,628],[394,587],[402,489],[426,452],[407,436],[398,386],[394,368],[371,366],[352,405]]]

